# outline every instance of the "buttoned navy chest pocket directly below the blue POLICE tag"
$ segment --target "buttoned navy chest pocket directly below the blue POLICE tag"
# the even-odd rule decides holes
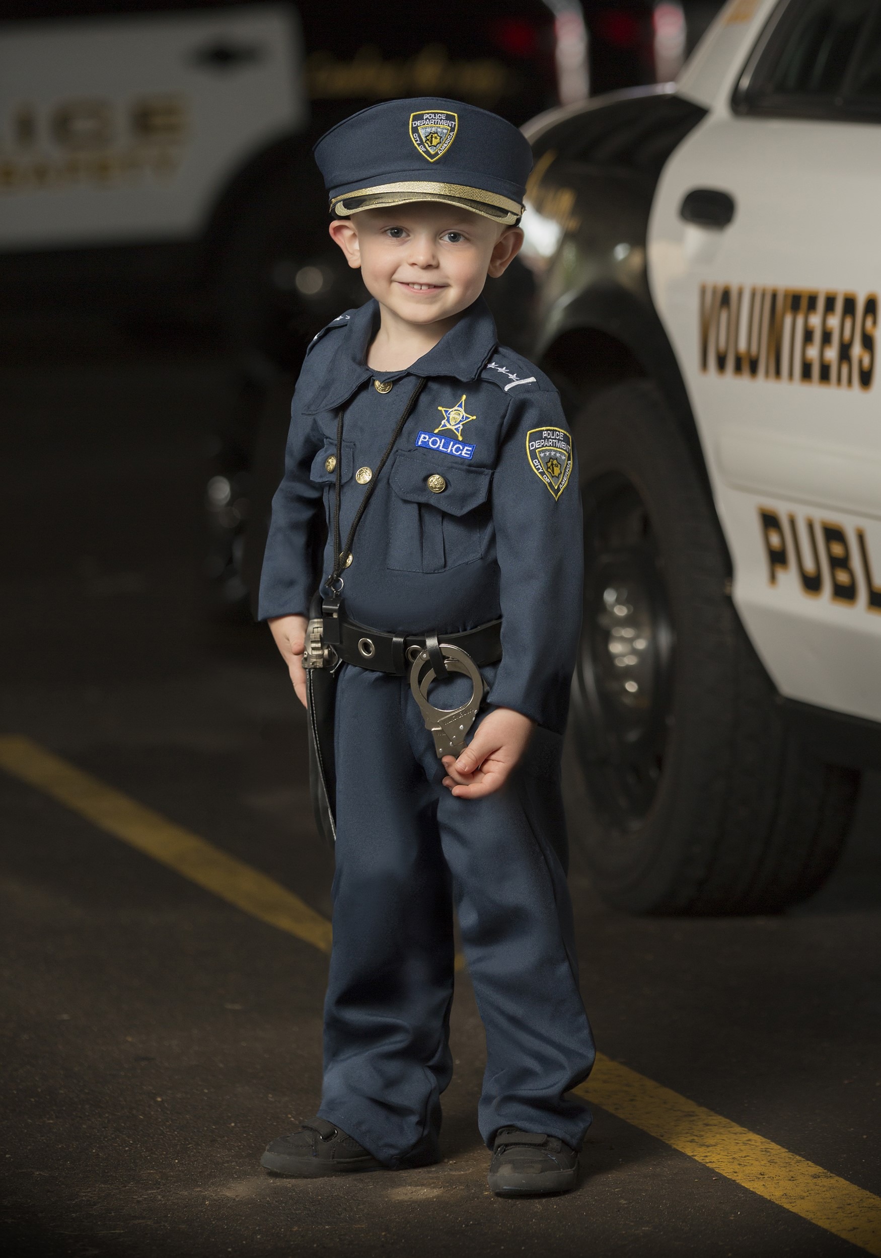
[[[444,572],[482,559],[491,478],[492,468],[400,450],[391,468],[388,566]]]

